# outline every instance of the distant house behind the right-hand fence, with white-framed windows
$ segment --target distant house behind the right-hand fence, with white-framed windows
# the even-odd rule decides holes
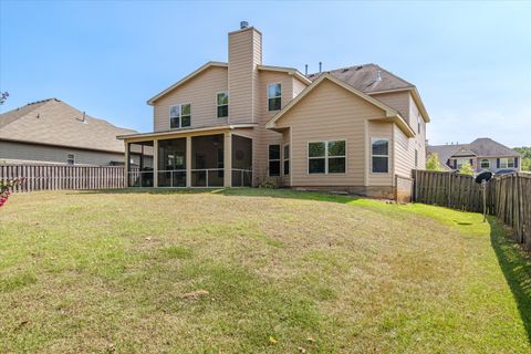
[[[470,144],[428,146],[427,153],[428,156],[436,153],[446,170],[459,170],[469,163],[475,171],[520,171],[521,165],[519,153],[488,137],[477,138]]]

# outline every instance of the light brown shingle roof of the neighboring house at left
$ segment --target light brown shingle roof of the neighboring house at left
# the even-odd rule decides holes
[[[66,146],[105,152],[124,152],[117,135],[136,133],[85,115],[58,100],[50,98],[0,114],[0,139]]]

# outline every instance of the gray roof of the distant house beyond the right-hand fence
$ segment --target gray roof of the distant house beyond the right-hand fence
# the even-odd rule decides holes
[[[441,164],[452,156],[465,156],[467,152],[473,153],[478,157],[518,157],[519,153],[488,137],[480,137],[470,144],[454,145],[428,145],[428,154],[437,153]]]

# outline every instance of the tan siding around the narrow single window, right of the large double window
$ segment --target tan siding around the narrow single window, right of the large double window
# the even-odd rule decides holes
[[[393,176],[394,176],[394,165],[393,165],[393,131],[399,131],[399,128],[393,123],[387,122],[368,122],[367,125],[367,155],[368,155],[368,174],[367,174],[367,186],[392,186]],[[389,139],[389,169],[387,174],[373,173],[372,169],[372,139],[373,138],[387,138]]]

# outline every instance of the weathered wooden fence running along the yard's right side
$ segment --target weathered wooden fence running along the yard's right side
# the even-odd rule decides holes
[[[483,211],[482,188],[472,176],[414,170],[414,200],[466,211]],[[494,176],[486,186],[487,214],[496,216],[531,250],[531,174]]]

